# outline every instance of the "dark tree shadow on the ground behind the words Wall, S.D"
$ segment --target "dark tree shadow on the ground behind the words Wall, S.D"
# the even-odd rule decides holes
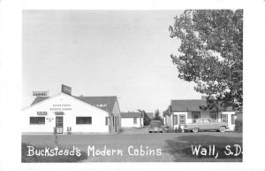
[[[167,145],[164,150],[174,157],[175,162],[240,162],[243,158],[242,137],[190,135],[178,136],[165,142]],[[195,146],[201,147],[197,154],[194,153]],[[212,153],[214,147],[215,153]]]

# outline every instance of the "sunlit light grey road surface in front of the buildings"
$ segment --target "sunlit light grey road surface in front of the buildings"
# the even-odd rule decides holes
[[[191,139],[191,140],[190,140]],[[195,142],[194,140],[198,140]],[[242,134],[239,133],[156,133],[156,134],[117,134],[117,135],[60,135],[58,144],[60,148],[72,148],[74,145],[83,152],[89,152],[89,157],[84,162],[91,161],[133,161],[133,162],[172,162],[172,161],[198,161],[178,154],[178,149],[188,143],[208,143],[225,144],[242,143]],[[34,144],[35,146],[55,146],[54,136],[50,135],[23,135],[23,143]],[[93,146],[98,152],[106,150],[121,150],[122,155],[113,153],[113,155],[93,156]],[[87,150],[90,147],[90,150]],[[143,155],[140,155],[141,154]],[[95,152],[96,153],[96,152]],[[236,159],[238,161],[239,159]],[[200,161],[231,161],[231,159]]]

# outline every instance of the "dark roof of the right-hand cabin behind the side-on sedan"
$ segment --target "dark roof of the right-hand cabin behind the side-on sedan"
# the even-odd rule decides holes
[[[207,100],[171,100],[171,111],[172,112],[183,112],[183,111],[204,111],[201,107],[207,107]],[[227,107],[225,111],[233,111],[231,107]]]

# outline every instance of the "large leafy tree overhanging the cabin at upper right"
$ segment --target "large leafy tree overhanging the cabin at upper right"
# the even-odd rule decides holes
[[[174,18],[170,37],[180,41],[171,54],[178,77],[195,82],[207,108],[243,106],[243,10],[186,10]]]

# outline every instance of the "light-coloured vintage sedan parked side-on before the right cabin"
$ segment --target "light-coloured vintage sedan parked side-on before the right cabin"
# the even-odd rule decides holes
[[[198,132],[200,130],[217,130],[220,132],[225,132],[228,129],[228,123],[217,122],[211,118],[202,118],[195,120],[194,123],[186,124],[184,129],[185,131]]]

